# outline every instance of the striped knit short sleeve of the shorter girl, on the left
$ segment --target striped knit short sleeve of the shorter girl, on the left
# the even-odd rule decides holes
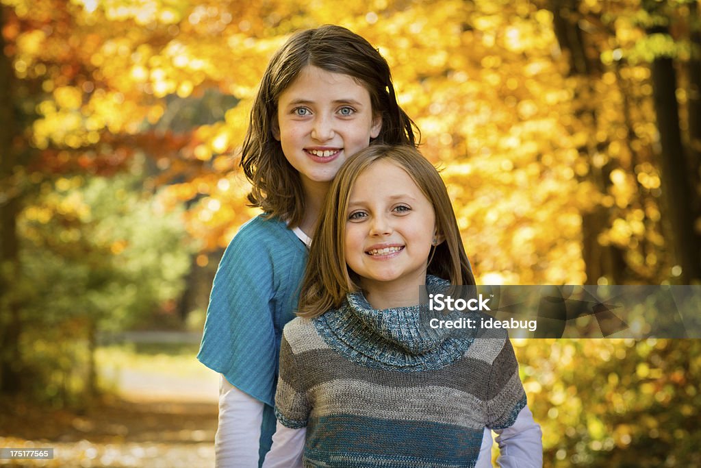
[[[294,321],[290,322],[292,323]],[[304,368],[287,340],[289,326],[285,327],[283,342],[280,344],[280,380],[275,394],[275,416],[284,426],[301,429],[307,425],[311,406],[305,386]]]

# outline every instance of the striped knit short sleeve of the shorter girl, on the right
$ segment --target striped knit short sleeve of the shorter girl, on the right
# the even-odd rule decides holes
[[[516,421],[526,406],[526,392],[519,377],[519,364],[510,340],[504,339],[501,352],[491,366],[486,424],[489,429],[505,429]]]

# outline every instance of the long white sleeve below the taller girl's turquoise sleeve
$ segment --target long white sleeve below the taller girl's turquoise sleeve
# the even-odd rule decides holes
[[[222,375],[215,435],[217,468],[258,466],[263,408],[264,403],[241,392]]]

